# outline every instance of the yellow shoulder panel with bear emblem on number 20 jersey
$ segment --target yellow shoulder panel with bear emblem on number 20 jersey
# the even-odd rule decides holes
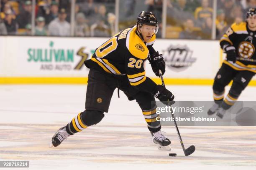
[[[136,26],[129,30],[126,38],[126,47],[134,57],[145,60],[148,57],[148,48],[136,34]]]

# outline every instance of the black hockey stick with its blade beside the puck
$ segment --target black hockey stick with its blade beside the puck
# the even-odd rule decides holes
[[[161,80],[162,80],[162,86],[165,86],[165,84],[164,84],[164,78],[163,78],[163,75],[162,75],[161,70],[159,70],[159,75],[160,75]],[[168,105],[171,106],[171,105],[170,105],[170,101],[167,100],[167,102],[168,102]],[[176,122],[176,120],[175,120],[175,116],[174,116],[174,112],[173,112],[173,110],[172,110],[172,107],[171,107],[171,111],[172,111],[172,118],[173,118],[173,120],[174,120],[174,125],[175,125],[175,128],[176,128],[178,137],[179,137],[179,142],[180,142],[180,144],[182,145],[183,152],[184,152],[185,156],[191,155],[192,153],[195,152],[195,146],[194,146],[194,145],[191,145],[191,146],[189,146],[189,148],[185,149],[184,144],[183,144],[183,141],[182,141],[182,138],[181,138],[181,135],[180,135],[180,133],[179,133],[179,128],[178,128],[178,126],[177,126],[177,122]]]

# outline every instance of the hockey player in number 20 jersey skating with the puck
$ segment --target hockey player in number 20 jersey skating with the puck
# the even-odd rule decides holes
[[[158,21],[155,15],[142,11],[135,26],[111,37],[95,50],[90,60],[84,62],[90,68],[85,110],[56,132],[52,138],[54,147],[69,135],[100,122],[104,112],[108,112],[113,91],[118,88],[118,92],[119,89],[122,90],[128,100],[138,102],[153,142],[159,149],[171,149],[171,141],[161,133],[160,122],[156,120],[158,115],[154,96],[164,102],[174,100],[174,95],[146,77],[143,67],[149,56],[148,60],[156,76],[159,76],[159,70],[165,72],[163,56],[152,47],[157,31]]]

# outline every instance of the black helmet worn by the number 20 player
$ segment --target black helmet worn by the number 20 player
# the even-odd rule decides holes
[[[142,11],[137,18],[137,23],[145,24],[145,25],[152,25],[157,26],[158,20],[156,16],[152,12],[144,12]]]

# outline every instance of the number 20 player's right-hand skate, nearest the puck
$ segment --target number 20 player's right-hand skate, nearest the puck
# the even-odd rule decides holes
[[[153,142],[158,145],[159,150],[171,150],[171,141],[163,135],[161,130],[156,133],[151,132],[151,135],[153,136]]]

